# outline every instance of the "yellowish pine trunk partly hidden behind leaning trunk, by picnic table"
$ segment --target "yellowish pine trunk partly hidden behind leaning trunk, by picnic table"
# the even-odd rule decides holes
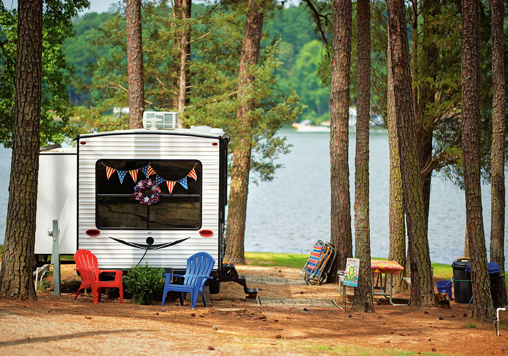
[[[404,221],[404,196],[402,192],[402,176],[400,173],[399,139],[397,137],[397,122],[395,120],[395,98],[393,93],[393,73],[391,50],[387,50],[388,72],[388,146],[390,150],[390,185],[389,185],[389,228],[390,250],[388,259],[396,261],[401,266],[406,266],[406,227]],[[404,282],[406,270],[393,277],[394,289],[401,293],[407,292],[407,284]]]

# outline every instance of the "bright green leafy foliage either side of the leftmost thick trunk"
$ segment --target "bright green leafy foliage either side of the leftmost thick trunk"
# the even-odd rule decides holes
[[[74,69],[63,54],[63,42],[74,35],[71,19],[88,6],[87,0],[45,1],[43,13],[41,145],[72,136],[67,85]],[[14,85],[16,82],[17,11],[0,4],[0,143],[12,146]]]

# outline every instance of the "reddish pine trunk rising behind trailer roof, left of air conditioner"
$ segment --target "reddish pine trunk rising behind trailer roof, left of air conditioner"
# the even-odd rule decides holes
[[[143,127],[143,111],[145,111],[141,0],[127,0],[125,15],[129,76],[129,129],[139,129]]]

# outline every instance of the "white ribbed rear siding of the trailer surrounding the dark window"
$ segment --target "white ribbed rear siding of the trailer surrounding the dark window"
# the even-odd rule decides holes
[[[111,238],[131,243],[146,244],[151,236],[154,244],[188,240],[163,249],[149,250],[141,263],[153,267],[184,270],[187,258],[198,251],[210,253],[218,261],[219,243],[219,145],[217,137],[171,135],[165,132],[83,136],[78,144],[78,244],[80,249],[92,251],[101,269],[124,269],[136,265],[145,250],[118,243]],[[199,229],[102,229],[97,236],[85,231],[96,226],[96,162],[107,160],[199,160],[202,164],[201,222]],[[142,173],[140,173],[142,174]],[[118,179],[113,173],[110,179]],[[125,177],[125,180],[130,177]],[[139,181],[139,177],[138,177]],[[119,182],[118,182],[119,183]],[[120,184],[120,183],[119,183]],[[134,195],[134,192],[133,192]],[[134,199],[134,197],[133,197]],[[199,230],[214,232],[212,238],[203,238]],[[215,265],[217,269],[218,263]]]

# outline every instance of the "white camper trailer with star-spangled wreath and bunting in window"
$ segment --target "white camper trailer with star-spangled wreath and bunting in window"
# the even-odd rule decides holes
[[[176,113],[145,112],[143,129],[87,133],[75,148],[40,152],[35,254],[92,251],[99,268],[138,263],[185,271],[199,251],[216,261],[210,284],[244,279],[223,264],[229,135],[206,126],[177,129]]]

